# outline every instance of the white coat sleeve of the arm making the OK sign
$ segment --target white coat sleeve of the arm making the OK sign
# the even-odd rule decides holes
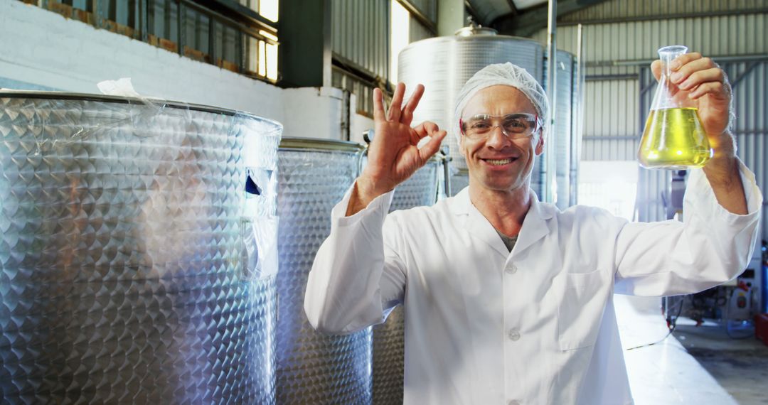
[[[316,330],[353,333],[382,323],[402,303],[405,266],[392,247],[398,232],[386,220],[392,193],[347,217],[350,188],[333,208],[331,232],[315,256],[304,296],[306,317]]]

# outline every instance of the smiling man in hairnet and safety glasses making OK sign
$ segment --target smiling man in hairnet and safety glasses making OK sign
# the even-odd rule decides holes
[[[723,71],[700,54],[672,68],[714,149],[691,170],[682,223],[538,202],[529,185],[548,105],[512,64],[486,67],[459,94],[468,188],[387,215],[392,189],[446,133],[410,127],[423,87],[403,107],[399,84],[388,114],[374,91],[369,163],[333,209],[307,285],[310,323],[351,333],[405,305],[406,404],[632,403],[612,294],[686,294],[733,278],[752,254],[762,202],[734,154]]]

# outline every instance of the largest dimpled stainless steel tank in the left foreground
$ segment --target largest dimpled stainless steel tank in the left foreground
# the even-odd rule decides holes
[[[281,130],[211,107],[0,93],[3,402],[274,403],[276,268],[243,243],[270,243],[244,209],[243,140],[253,170],[274,170]],[[266,215],[276,196],[260,187]]]

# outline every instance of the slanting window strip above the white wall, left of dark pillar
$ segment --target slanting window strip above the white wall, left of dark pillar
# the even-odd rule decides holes
[[[25,2],[230,71],[273,82],[279,75],[279,0]]]

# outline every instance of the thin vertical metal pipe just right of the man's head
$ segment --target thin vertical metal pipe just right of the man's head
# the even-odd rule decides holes
[[[557,0],[549,0],[548,2],[548,24],[547,24],[547,95],[549,98],[549,130],[554,130],[554,120],[556,119],[556,105],[557,102],[557,65],[556,59],[558,54],[558,42],[557,42],[557,18],[558,18],[558,2]],[[545,140],[545,160],[541,165],[542,173],[544,175],[544,200],[545,202],[554,203],[558,199],[557,195],[557,151],[555,150],[554,133],[548,133]]]

